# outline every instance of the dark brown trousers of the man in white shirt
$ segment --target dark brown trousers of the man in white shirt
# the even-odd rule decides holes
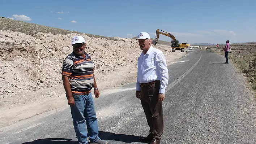
[[[163,106],[159,100],[160,80],[150,86],[140,87],[140,100],[149,125],[149,134],[160,139],[163,134]]]

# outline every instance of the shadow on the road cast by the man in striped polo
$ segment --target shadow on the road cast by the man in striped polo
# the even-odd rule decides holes
[[[39,139],[31,142],[26,142],[22,144],[77,144],[77,141],[71,141],[72,139],[65,138],[49,138],[49,139]]]

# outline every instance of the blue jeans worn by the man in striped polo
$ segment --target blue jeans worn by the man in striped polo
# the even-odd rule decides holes
[[[80,144],[88,144],[88,136],[90,142],[96,142],[99,140],[98,120],[91,92],[85,95],[73,94],[73,97],[75,105],[71,106],[71,115],[78,142]]]

